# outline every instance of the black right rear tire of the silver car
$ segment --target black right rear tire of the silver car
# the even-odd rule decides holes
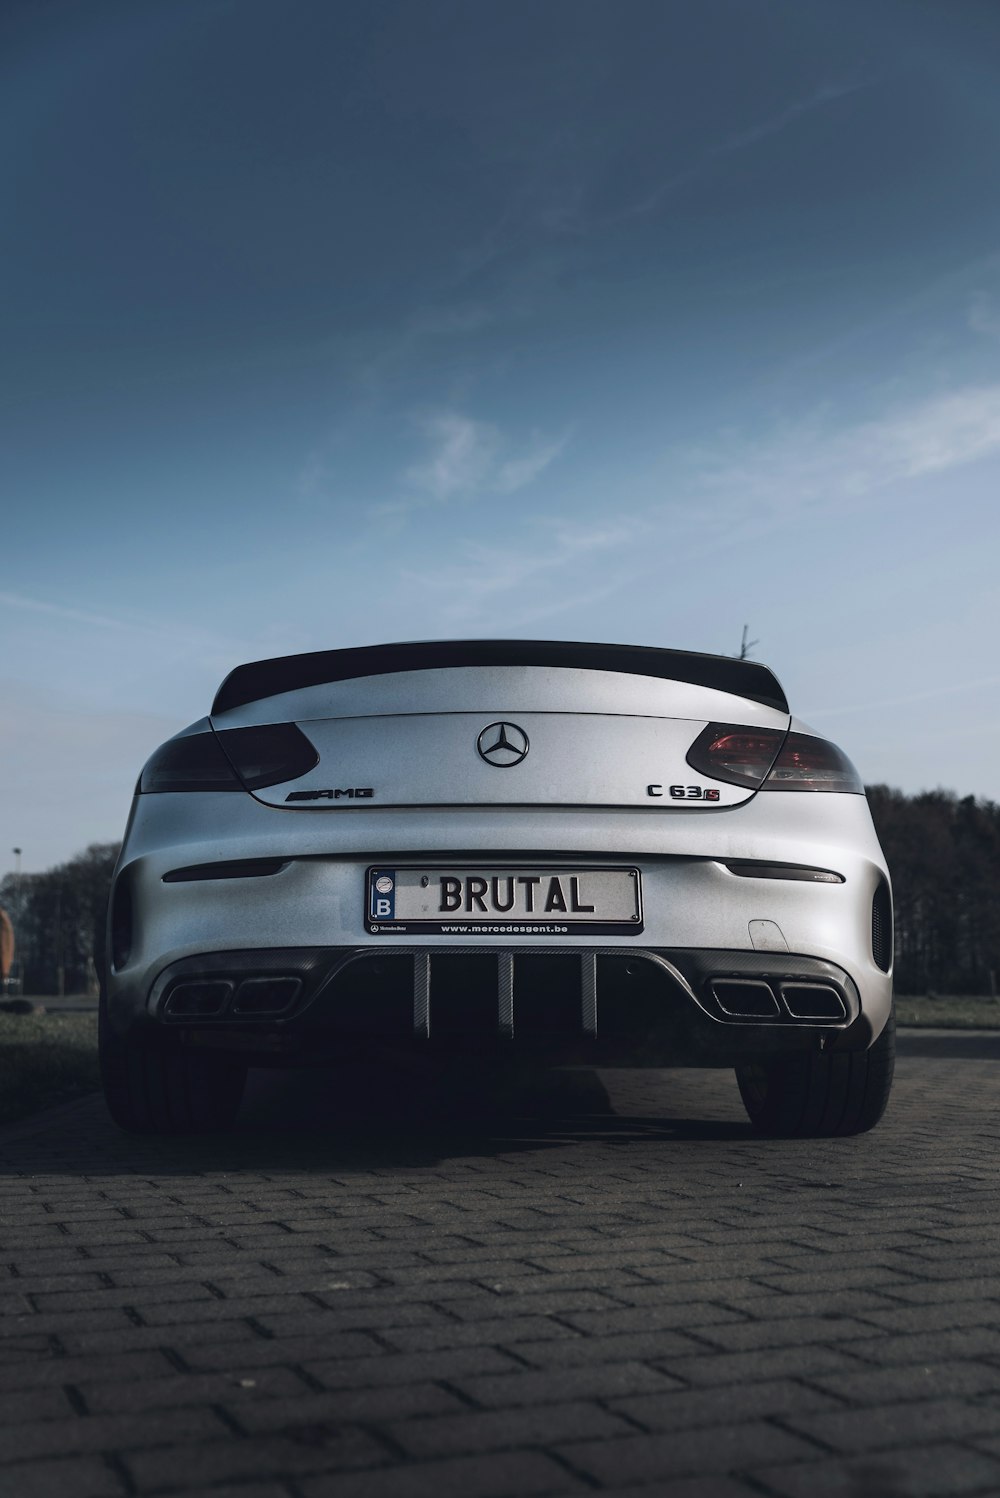
[[[870,1050],[816,1052],[737,1067],[740,1095],[760,1134],[832,1138],[864,1134],[885,1113],[895,1065],[895,1019]]]

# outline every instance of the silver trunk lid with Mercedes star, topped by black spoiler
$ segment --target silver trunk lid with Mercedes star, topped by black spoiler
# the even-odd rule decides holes
[[[524,643],[518,646],[524,649]],[[644,652],[639,667],[651,664],[647,656],[668,658],[654,662],[662,671],[671,667],[671,652]],[[717,658],[684,658],[687,676],[693,674],[692,659]],[[635,667],[636,661],[626,664]],[[722,659],[722,671],[707,670],[708,682],[693,682],[621,670],[617,662],[614,670],[561,661],[439,667],[418,658],[401,671],[325,682],[302,682],[299,671],[287,691],[251,700],[244,694],[243,701],[228,703],[223,686],[213,725],[299,727],[316,748],[316,765],[253,792],[283,809],[683,804],[711,810],[738,806],[754,789],[690,767],[689,749],[705,727],[734,724],[784,733],[790,722],[777,683],[771,691],[747,673],[756,697],[713,685],[743,685],[741,674],[732,671],[740,665]],[[766,668],[756,670],[769,677]],[[266,685],[275,682],[281,677],[271,671]]]

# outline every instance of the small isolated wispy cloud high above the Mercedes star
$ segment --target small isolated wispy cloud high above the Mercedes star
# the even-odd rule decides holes
[[[415,500],[445,503],[484,493],[513,494],[540,478],[569,442],[569,431],[560,437],[533,433],[515,448],[497,425],[460,410],[431,412],[419,418],[418,427],[425,452],[403,475],[412,491],[404,508]]]

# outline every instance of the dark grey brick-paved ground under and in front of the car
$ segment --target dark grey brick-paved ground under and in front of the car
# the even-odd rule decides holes
[[[0,1131],[0,1494],[1000,1494],[1000,1067],[922,1050],[823,1144],[677,1071]]]

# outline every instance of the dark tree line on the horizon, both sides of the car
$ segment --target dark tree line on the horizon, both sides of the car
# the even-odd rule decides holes
[[[892,875],[897,993],[996,993],[1000,806],[888,785],[870,785],[867,795]],[[94,989],[117,857],[117,843],[91,843],[45,873],[0,882],[24,993]]]

